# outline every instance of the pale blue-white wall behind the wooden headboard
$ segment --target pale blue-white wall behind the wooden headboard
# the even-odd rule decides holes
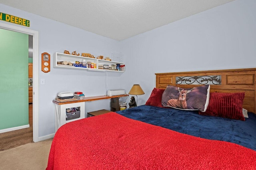
[[[140,84],[142,105],[154,73],[256,67],[255,9],[255,0],[236,0],[121,41],[122,84]]]

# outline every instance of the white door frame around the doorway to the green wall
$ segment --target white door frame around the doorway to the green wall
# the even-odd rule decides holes
[[[38,142],[38,31],[2,22],[0,28],[33,36],[33,141]]]

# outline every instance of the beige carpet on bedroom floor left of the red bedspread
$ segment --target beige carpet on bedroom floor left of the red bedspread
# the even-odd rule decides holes
[[[0,170],[45,170],[52,139],[0,151]]]

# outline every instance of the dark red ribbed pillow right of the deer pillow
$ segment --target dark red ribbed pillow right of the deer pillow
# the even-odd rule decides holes
[[[245,121],[242,109],[245,93],[210,93],[209,105],[200,115],[218,116]]]

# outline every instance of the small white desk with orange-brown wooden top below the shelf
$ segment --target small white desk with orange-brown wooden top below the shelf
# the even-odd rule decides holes
[[[64,124],[76,121],[79,119],[85,118],[85,102],[95,101],[95,100],[103,100],[103,99],[112,99],[112,98],[120,98],[129,96],[128,94],[117,95],[117,96],[92,96],[85,97],[83,100],[69,101],[69,102],[57,102],[53,100],[52,102],[55,104],[55,132]],[[79,107],[80,108],[80,117],[72,120],[66,120],[66,109]]]

